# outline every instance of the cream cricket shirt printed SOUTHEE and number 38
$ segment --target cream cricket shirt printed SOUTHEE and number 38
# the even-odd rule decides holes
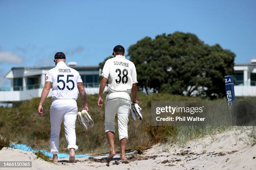
[[[131,93],[132,85],[138,82],[135,65],[122,55],[108,59],[101,75],[108,79],[108,92]]]

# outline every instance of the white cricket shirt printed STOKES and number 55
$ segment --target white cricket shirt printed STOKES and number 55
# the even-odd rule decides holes
[[[77,82],[83,82],[79,72],[74,70],[64,62],[58,62],[46,74],[46,82],[52,82],[52,100],[74,99],[77,100]]]

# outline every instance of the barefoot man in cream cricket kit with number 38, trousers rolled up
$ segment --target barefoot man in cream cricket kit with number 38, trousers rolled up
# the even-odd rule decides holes
[[[98,106],[102,108],[102,94],[108,80],[108,95],[105,100],[105,133],[110,145],[108,159],[115,155],[115,114],[118,114],[118,134],[120,140],[120,158],[126,160],[125,147],[128,139],[128,115],[131,108],[130,94],[137,102],[137,74],[133,62],[125,59],[125,49],[117,45],[113,49],[115,57],[108,59],[102,70]]]

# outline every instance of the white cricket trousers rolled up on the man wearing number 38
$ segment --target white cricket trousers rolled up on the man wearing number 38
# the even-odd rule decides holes
[[[113,92],[105,100],[105,133],[115,133],[115,114],[118,115],[119,140],[128,139],[128,115],[131,108],[131,98],[127,92]]]

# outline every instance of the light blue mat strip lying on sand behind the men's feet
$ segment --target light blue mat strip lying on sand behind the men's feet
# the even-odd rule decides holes
[[[29,152],[32,152],[32,153],[36,153],[36,152],[38,152],[38,150],[33,150],[31,147],[28,147],[26,144],[15,144],[15,145],[13,145],[13,147],[12,148],[14,148],[14,149],[20,149],[20,150],[25,150],[25,151],[29,151]],[[48,152],[47,150],[43,150],[43,149],[41,149],[41,150],[39,150],[41,153],[44,153],[44,155],[46,155],[46,156],[49,156],[50,158],[52,158],[52,154],[50,153],[50,152]],[[131,153],[133,153],[133,152],[130,152],[130,153],[127,153],[127,154],[125,154],[125,155],[128,155],[128,154],[131,154]],[[58,158],[69,158],[69,154],[67,154],[67,153],[58,153],[57,154],[58,155]],[[109,155],[108,153],[107,154],[102,154],[102,155],[75,155],[75,157],[90,157],[90,156],[104,156],[104,155]],[[119,155],[119,154],[117,154],[117,155]]]

